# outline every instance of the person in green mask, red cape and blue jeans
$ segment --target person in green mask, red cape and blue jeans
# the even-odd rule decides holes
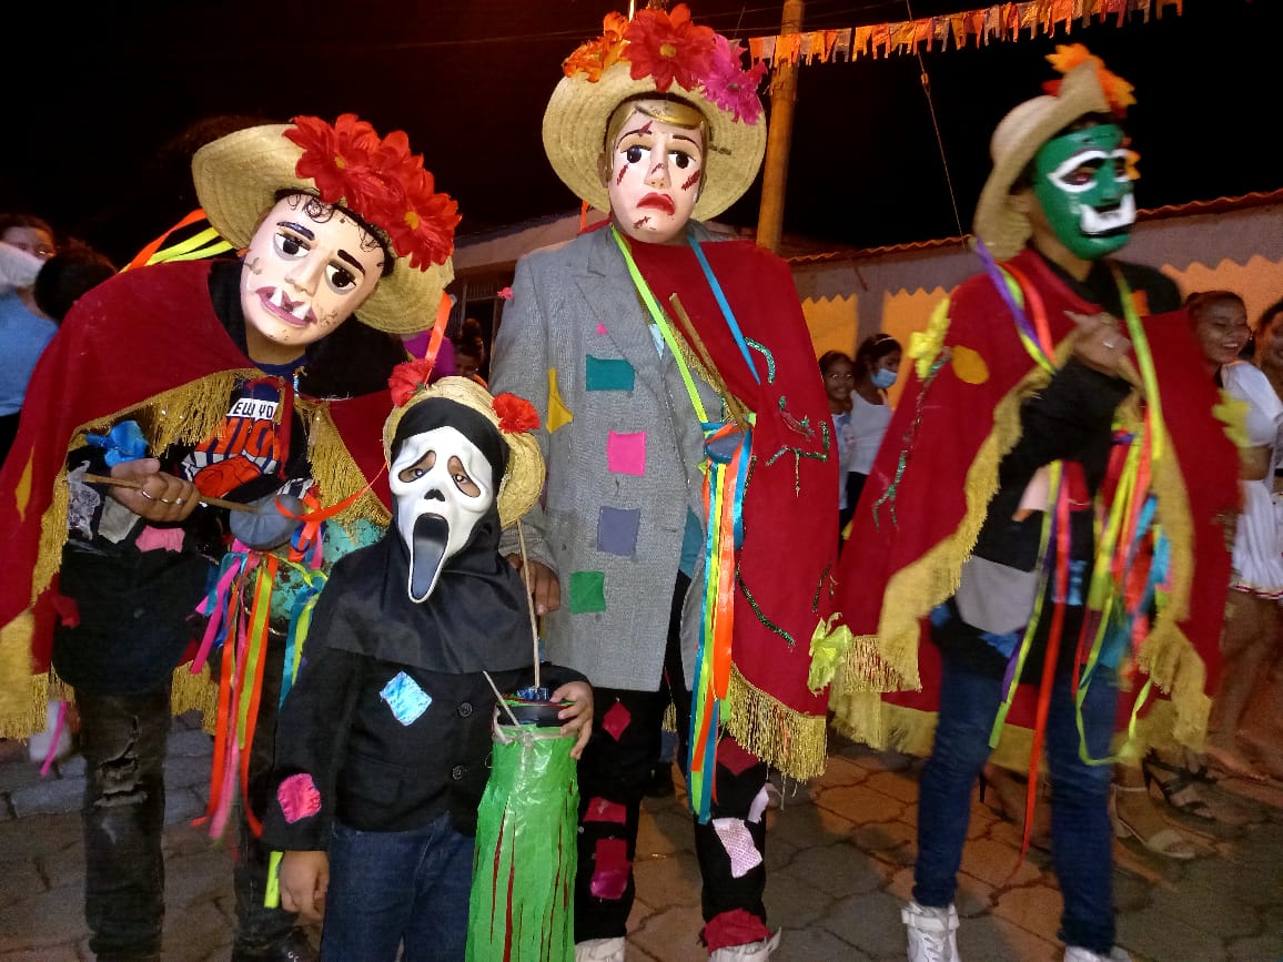
[[[1065,958],[1126,958],[1112,752],[1197,741],[1215,681],[1237,453],[1189,321],[1153,316],[1180,307],[1175,285],[1110,257],[1135,219],[1132,87],[1080,45],[1048,59],[1064,78],[993,133],[985,269],[912,339],[839,572],[854,637],[835,723],[929,753],[911,959],[958,957],[957,872],[990,753],[1049,771]],[[869,679],[907,694],[863,693]]]

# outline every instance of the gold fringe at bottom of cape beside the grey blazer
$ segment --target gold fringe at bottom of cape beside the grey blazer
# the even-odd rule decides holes
[[[828,721],[804,714],[754,688],[731,666],[727,731],[745,749],[797,781],[824,773],[828,761]]]

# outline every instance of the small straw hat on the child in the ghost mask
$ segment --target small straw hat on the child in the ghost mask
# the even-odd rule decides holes
[[[427,369],[418,360],[398,364],[393,372],[390,384],[396,407],[384,422],[384,457],[391,464],[396,428],[405,413],[422,401],[438,398],[477,412],[494,425],[508,444],[508,467],[497,485],[495,502],[499,507],[499,523],[503,527],[512,525],[534,507],[544,487],[544,458],[539,453],[539,443],[530,434],[539,427],[539,414],[523,398],[514,394],[494,398],[467,377],[443,377],[425,385],[420,378],[427,376]]]

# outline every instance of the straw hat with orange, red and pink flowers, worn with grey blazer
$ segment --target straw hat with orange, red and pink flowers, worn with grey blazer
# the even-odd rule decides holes
[[[642,50],[634,51],[634,63],[630,47],[645,46],[661,33],[671,41],[668,47],[677,50],[675,59],[690,47],[698,49],[686,64],[679,63],[671,80],[667,62],[653,56],[644,62],[653,72],[634,78],[634,69],[644,67]],[[758,63],[743,71],[740,56],[738,44],[731,46],[712,28],[689,23],[685,4],[677,4],[671,14],[643,9],[631,22],[622,14],[608,15],[606,36],[566,59],[566,76],[544,110],[544,151],[553,171],[575,196],[598,210],[609,210],[597,162],[606,149],[611,113],[633,96],[677,96],[698,108],[708,122],[703,183],[692,215],[697,221],[716,217],[753,185],[766,154],[766,119],[756,92],[766,67]]]

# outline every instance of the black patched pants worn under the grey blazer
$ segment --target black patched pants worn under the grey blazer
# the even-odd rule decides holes
[[[609,939],[626,932],[636,895],[633,859],[636,857],[638,816],[650,770],[659,753],[659,734],[670,699],[677,709],[679,750],[683,768],[686,766],[692,698],[681,666],[680,622],[681,603],[689,585],[690,578],[677,576],[665,653],[665,679],[659,689],[631,691],[594,688],[593,738],[579,763],[576,941]],[[722,744],[730,736],[724,734]],[[703,877],[704,922],[736,908],[766,921],[766,907],[762,903],[766,890],[765,862],[735,877],[730,856],[713,827],[716,818],[743,820],[749,839],[765,859],[766,821],[749,822],[747,816],[753,799],[766,786],[766,764],[760,761],[738,772],[718,764],[712,817],[708,823],[701,825],[692,816],[695,856]],[[626,865],[618,858],[621,848]],[[621,867],[626,871],[626,880],[620,877]]]

